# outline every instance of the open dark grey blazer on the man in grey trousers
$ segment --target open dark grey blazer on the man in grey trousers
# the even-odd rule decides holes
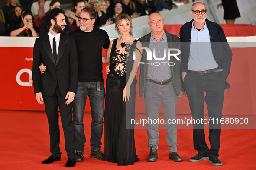
[[[167,41],[168,42],[173,42],[168,44],[168,48],[177,48],[181,50],[181,44],[180,44],[180,39],[178,38],[177,35],[171,34],[167,31],[165,31],[166,36],[167,36]],[[150,36],[151,33],[144,35],[143,37],[139,38],[138,41],[140,42],[149,42],[150,41]],[[149,44],[148,44],[149,45]],[[172,46],[172,47],[171,47]],[[149,48],[149,47],[148,47]],[[179,59],[181,59],[181,54],[178,55]],[[142,54],[141,62],[146,63],[146,52]],[[185,91],[184,88],[181,88],[181,82],[182,78],[180,75],[180,64],[181,62],[176,60],[175,57],[170,57],[170,62],[175,63],[174,66],[171,67],[171,74],[172,74],[172,82],[175,87],[175,91],[177,95],[180,95],[181,91]],[[147,79],[147,66],[146,64],[140,65],[140,75],[139,75],[139,97],[143,96],[145,86],[146,86],[146,79]]]

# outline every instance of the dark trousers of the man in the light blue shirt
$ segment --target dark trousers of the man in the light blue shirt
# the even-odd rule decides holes
[[[205,142],[204,124],[202,123],[193,122],[193,141],[194,149],[200,154],[208,154],[209,157],[219,156],[224,82],[225,79],[221,72],[205,75],[188,72],[184,78],[185,91],[194,120],[204,118],[204,101],[207,105],[208,115],[211,119],[209,122],[211,148],[209,149]],[[218,124],[217,119],[219,120]]]

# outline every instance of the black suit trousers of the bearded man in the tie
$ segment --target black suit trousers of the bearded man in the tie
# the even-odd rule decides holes
[[[72,120],[72,105],[65,104],[65,96],[60,94],[58,83],[53,96],[43,95],[45,102],[45,112],[48,118],[49,124],[49,134],[50,134],[50,152],[52,153],[52,158],[61,156],[60,152],[60,132],[58,125],[58,107],[60,110],[60,116],[62,121],[62,127],[64,131],[65,138],[65,150],[68,153],[69,159],[76,159],[75,154],[75,126]]]

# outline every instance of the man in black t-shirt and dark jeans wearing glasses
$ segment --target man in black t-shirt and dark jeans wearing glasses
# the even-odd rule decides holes
[[[75,149],[77,162],[84,161],[84,109],[87,96],[91,106],[91,158],[102,159],[101,137],[103,131],[105,88],[102,74],[102,48],[107,52],[110,41],[107,32],[94,27],[97,13],[94,9],[81,10],[80,29],[69,35],[75,38],[78,50],[78,86],[75,95],[73,120],[75,123]]]

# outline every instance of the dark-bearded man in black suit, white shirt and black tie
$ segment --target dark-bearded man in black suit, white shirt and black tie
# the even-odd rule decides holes
[[[77,49],[74,38],[63,34],[66,22],[62,9],[52,9],[45,17],[50,28],[48,34],[36,39],[34,45],[32,79],[36,100],[45,103],[50,133],[50,151],[52,155],[42,161],[50,164],[60,161],[60,132],[58,125],[58,107],[65,136],[65,149],[68,161],[65,167],[74,167],[76,163],[74,123],[72,120],[72,101],[78,82]],[[47,70],[41,75],[41,63]]]

